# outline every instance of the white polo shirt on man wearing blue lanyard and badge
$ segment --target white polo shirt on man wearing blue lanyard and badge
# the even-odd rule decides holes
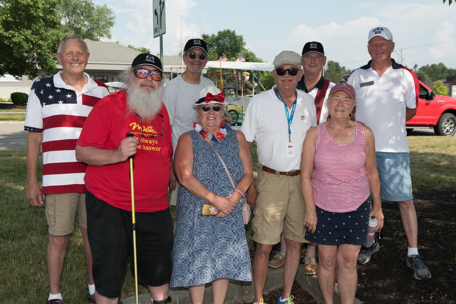
[[[275,87],[252,97],[241,131],[247,141],[255,140],[260,164],[277,171],[298,170],[304,138],[307,131],[316,126],[315,103],[309,94],[296,90],[295,114],[290,125],[290,138],[295,153],[294,157],[287,157],[287,145],[290,142],[288,119],[285,103],[275,95]],[[290,109],[289,113],[291,114]]]

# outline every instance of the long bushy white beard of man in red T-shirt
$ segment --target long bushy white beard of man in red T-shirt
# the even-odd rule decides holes
[[[163,93],[163,85],[152,90],[143,90],[140,87],[130,85],[127,88],[127,113],[130,116],[132,113],[137,113],[141,116],[144,122],[150,123],[154,120],[156,114],[160,111],[161,94]]]

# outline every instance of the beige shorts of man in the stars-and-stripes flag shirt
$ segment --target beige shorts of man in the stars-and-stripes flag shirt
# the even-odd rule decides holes
[[[85,193],[62,193],[46,195],[46,219],[49,234],[64,236],[74,228],[74,217],[78,209],[79,226],[87,229]]]

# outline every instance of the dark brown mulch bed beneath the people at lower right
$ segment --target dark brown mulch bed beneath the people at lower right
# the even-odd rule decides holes
[[[413,277],[413,271],[405,262],[407,239],[399,207],[396,203],[383,201],[385,220],[380,250],[373,254],[370,262],[358,265],[356,297],[364,303],[456,303],[456,189],[420,190],[414,196],[418,250],[424,256],[432,278],[417,280]],[[252,244],[252,258],[254,250]],[[276,304],[280,292],[278,289],[265,294],[264,302]],[[318,303],[297,283],[293,286],[293,296],[296,304]]]

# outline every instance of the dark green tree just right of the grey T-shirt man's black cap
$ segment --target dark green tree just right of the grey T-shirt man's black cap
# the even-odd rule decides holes
[[[244,37],[236,35],[236,31],[227,29],[218,31],[217,35],[202,34],[202,39],[207,43],[209,60],[218,60],[225,54],[229,61],[234,61],[244,51]]]

